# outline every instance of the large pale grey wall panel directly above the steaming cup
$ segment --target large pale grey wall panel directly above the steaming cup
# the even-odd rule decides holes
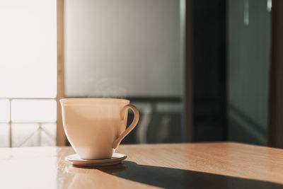
[[[182,96],[176,0],[65,0],[66,96]]]

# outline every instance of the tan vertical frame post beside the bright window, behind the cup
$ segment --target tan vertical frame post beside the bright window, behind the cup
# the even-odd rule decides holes
[[[67,142],[59,100],[64,98],[64,0],[57,0],[57,146]]]

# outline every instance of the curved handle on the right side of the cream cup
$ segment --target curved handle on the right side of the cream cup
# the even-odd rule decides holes
[[[124,139],[127,136],[127,134],[129,134],[129,132],[131,132],[134,129],[134,127],[136,127],[137,122],[139,122],[139,110],[137,110],[137,108],[132,104],[125,105],[122,108],[120,113],[121,120],[125,119],[125,111],[128,109],[131,109],[133,111],[134,120],[132,120],[131,125],[129,125],[129,127],[127,127],[127,129],[124,132],[122,132],[122,134],[120,134],[120,136],[117,139],[115,139],[112,146],[113,149],[116,149],[119,146],[122,139]]]

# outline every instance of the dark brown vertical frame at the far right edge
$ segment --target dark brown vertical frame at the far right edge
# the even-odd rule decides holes
[[[283,1],[272,0],[269,145],[283,148]]]

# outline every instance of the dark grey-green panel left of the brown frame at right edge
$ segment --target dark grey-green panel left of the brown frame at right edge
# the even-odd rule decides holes
[[[244,4],[248,4],[246,10]],[[246,24],[244,15],[248,16]],[[246,128],[253,129],[238,130],[249,132],[243,134],[245,136],[260,136],[262,141],[255,144],[266,144],[271,27],[267,0],[229,0],[228,25],[230,120],[232,114],[236,115],[229,122],[229,128],[236,130],[232,122],[245,122]],[[249,122],[253,122],[253,126]],[[238,133],[229,132],[229,139],[241,141],[243,136]]]

